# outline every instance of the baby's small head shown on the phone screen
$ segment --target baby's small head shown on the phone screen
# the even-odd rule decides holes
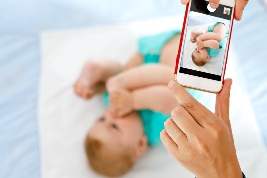
[[[195,49],[192,52],[192,61],[197,66],[203,66],[206,64],[206,62],[209,60],[210,55],[208,54],[208,50],[206,48],[202,49]]]

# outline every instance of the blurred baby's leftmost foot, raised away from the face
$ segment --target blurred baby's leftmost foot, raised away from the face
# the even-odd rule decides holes
[[[74,84],[74,90],[77,95],[84,99],[91,98],[100,88],[102,68],[96,62],[88,61],[81,75]]]

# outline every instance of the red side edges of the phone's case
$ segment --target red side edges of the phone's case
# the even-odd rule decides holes
[[[179,64],[179,59],[180,59],[180,54],[181,54],[181,48],[182,48],[182,43],[183,43],[183,38],[184,38],[184,29],[185,29],[185,22],[186,22],[186,17],[187,17],[187,13],[188,13],[188,8],[189,8],[189,3],[187,3],[186,9],[185,9],[183,29],[182,29],[182,33],[181,33],[178,54],[177,54],[177,57],[176,57],[176,66],[175,66],[175,71],[174,71],[174,74],[176,74],[176,75],[177,75],[178,64]],[[233,27],[234,18],[235,18],[235,8],[234,8],[234,15],[233,15],[233,20],[232,20],[232,27]],[[226,64],[227,64],[227,58],[228,58],[228,51],[229,51],[229,46],[230,46],[231,35],[232,35],[232,28],[231,28],[230,35],[229,35],[229,44],[228,44],[228,48],[227,48],[226,61],[225,61],[225,67],[224,67],[224,74],[225,74],[225,69],[226,69]],[[224,79],[224,74],[223,74],[223,79]],[[224,80],[222,81],[222,84],[224,84]]]

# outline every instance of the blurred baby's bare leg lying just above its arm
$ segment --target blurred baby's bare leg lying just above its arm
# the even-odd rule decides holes
[[[110,77],[106,89],[111,92],[121,88],[133,90],[149,85],[167,85],[173,78],[173,72],[173,67],[165,64],[141,65]]]

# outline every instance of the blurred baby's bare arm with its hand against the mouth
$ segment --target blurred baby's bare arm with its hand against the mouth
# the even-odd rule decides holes
[[[142,109],[170,114],[172,109],[179,105],[166,85],[152,85],[132,91],[120,89],[111,92],[109,98],[110,105],[118,116]]]

